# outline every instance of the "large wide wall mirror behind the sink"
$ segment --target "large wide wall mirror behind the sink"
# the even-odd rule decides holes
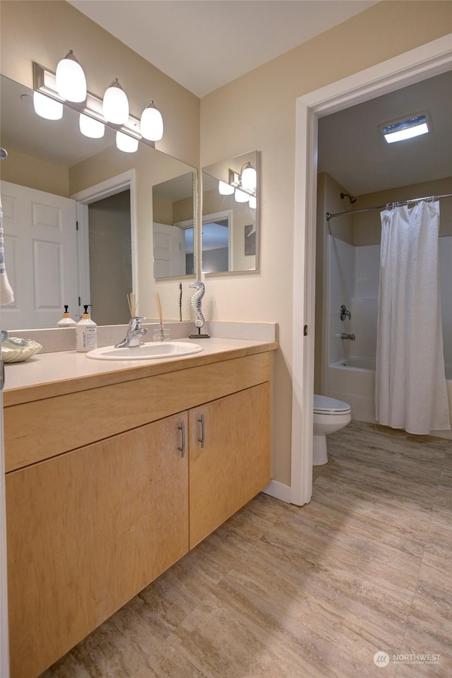
[[[150,317],[155,278],[194,277],[196,169],[146,143],[124,153],[109,126],[87,138],[69,107],[60,120],[39,117],[32,90],[4,76],[0,91],[5,258],[15,292],[1,307],[2,328],[54,327],[64,304],[74,319],[81,304],[93,304],[97,323],[127,323],[130,292]],[[183,234],[184,266],[154,271],[154,224]]]

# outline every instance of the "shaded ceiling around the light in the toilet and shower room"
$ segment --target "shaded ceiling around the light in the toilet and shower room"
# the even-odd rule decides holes
[[[353,195],[452,177],[452,71],[319,120],[319,172]],[[432,132],[388,144],[379,124],[428,110]],[[403,199],[403,198],[400,198]]]

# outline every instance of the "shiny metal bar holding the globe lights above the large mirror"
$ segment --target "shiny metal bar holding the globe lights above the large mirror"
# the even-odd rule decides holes
[[[141,136],[140,133],[140,119],[129,114],[129,119],[124,125],[114,125],[110,122],[107,122],[102,113],[102,99],[97,97],[95,94],[88,92],[86,95],[86,101],[80,104],[73,101],[66,101],[61,99],[57,93],[57,86],[55,83],[55,73],[49,71],[49,69],[40,66],[35,61],[33,61],[33,89],[36,92],[41,92],[42,94],[51,97],[52,99],[63,103],[65,106],[77,111],[78,113],[83,113],[89,117],[98,120],[105,124],[107,127],[111,127],[115,131],[121,131],[134,138],[138,141],[146,143],[148,146],[155,148],[155,141],[149,141]]]

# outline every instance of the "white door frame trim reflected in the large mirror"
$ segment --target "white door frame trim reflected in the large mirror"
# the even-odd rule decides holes
[[[90,297],[90,255],[88,238],[88,205],[103,198],[109,198],[126,189],[130,190],[130,230],[131,230],[131,258],[132,258],[132,291],[138,299],[138,266],[136,251],[136,192],[135,169],[110,177],[105,182],[89,186],[88,189],[78,191],[71,196],[77,202],[78,220],[78,280],[82,299]]]

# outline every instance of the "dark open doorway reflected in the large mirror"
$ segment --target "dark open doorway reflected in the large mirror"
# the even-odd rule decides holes
[[[129,322],[132,291],[130,190],[88,206],[91,314],[100,325]],[[82,300],[82,302],[84,302]]]

